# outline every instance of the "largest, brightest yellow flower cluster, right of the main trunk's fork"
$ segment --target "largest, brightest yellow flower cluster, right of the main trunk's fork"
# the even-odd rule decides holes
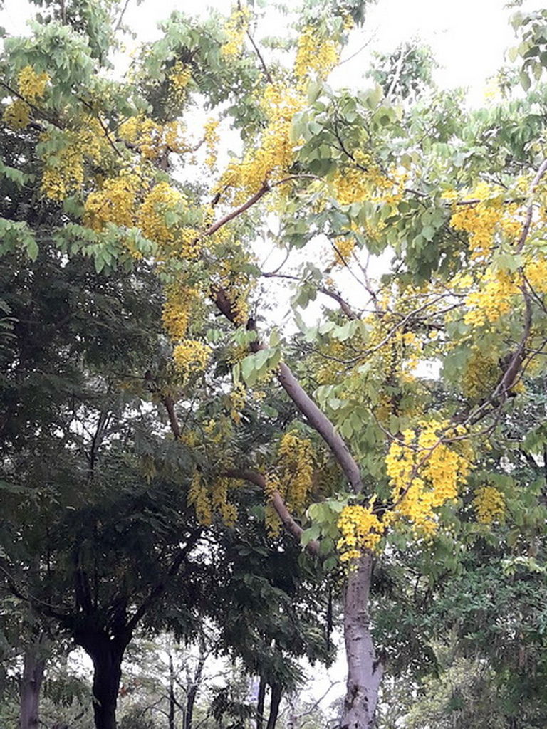
[[[419,534],[435,533],[434,510],[456,498],[470,472],[470,454],[457,453],[442,442],[447,427],[447,423],[421,421],[416,432],[407,429],[402,440],[394,440],[386,456],[394,502],[394,511],[386,516],[408,519]]]

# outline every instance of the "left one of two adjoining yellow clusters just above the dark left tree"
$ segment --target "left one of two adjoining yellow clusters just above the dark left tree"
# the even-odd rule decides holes
[[[102,230],[106,223],[131,227],[136,223],[136,197],[141,188],[139,176],[123,172],[106,179],[101,188],[85,200],[84,223]]]

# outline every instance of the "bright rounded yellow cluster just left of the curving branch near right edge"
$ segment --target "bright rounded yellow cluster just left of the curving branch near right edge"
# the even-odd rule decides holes
[[[494,322],[513,308],[515,297],[519,294],[515,275],[507,271],[489,268],[479,281],[479,289],[466,297],[465,324],[482,327],[486,322]]]

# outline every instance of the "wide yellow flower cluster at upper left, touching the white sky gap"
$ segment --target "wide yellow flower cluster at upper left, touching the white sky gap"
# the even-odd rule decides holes
[[[168,152],[182,155],[190,149],[176,121],[160,125],[139,114],[123,122],[118,133],[120,139],[137,147],[146,160],[157,160]]]

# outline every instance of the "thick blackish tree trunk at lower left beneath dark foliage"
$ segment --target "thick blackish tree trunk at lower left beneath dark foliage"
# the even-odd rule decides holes
[[[93,660],[93,717],[96,729],[116,729],[122,659],[128,641],[100,633],[78,641]]]

